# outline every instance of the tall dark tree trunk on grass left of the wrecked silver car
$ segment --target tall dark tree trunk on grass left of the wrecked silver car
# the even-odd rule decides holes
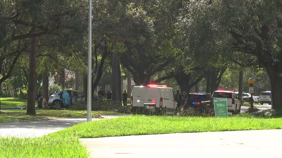
[[[30,51],[29,51],[29,77],[28,77],[28,100],[27,100],[27,115],[36,115],[34,91],[36,83],[36,46],[37,37],[31,37],[30,39]]]

